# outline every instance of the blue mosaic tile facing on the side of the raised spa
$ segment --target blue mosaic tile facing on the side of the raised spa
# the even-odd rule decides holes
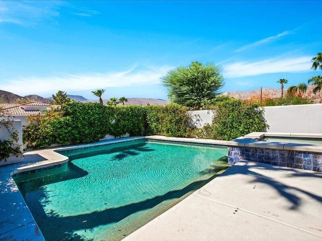
[[[322,172],[322,153],[228,147],[228,164],[233,165],[240,160]]]

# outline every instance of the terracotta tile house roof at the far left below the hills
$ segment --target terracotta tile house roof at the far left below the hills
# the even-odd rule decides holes
[[[47,110],[50,109],[51,105],[46,104],[46,103],[41,103],[41,102],[28,102],[28,103],[23,103],[23,104],[11,104],[11,103],[0,103],[0,112],[5,115],[34,115],[34,114],[40,114],[40,110],[25,110],[23,107],[24,106],[47,106]]]

